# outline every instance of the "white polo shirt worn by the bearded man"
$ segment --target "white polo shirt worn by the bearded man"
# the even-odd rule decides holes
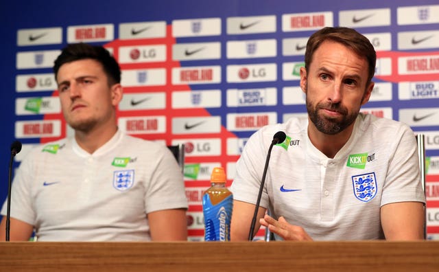
[[[381,206],[425,203],[409,126],[360,113],[350,139],[333,159],[311,144],[307,126],[307,118],[292,118],[250,137],[231,186],[235,200],[256,203],[273,135],[284,131],[287,139],[272,149],[261,207],[303,227],[314,240],[384,238]]]

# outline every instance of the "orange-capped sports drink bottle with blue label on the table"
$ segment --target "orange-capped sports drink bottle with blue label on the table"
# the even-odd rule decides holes
[[[215,167],[211,188],[203,194],[204,240],[229,241],[233,194],[226,188],[224,168]]]

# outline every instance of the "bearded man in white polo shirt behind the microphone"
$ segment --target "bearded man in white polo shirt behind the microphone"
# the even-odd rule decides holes
[[[272,149],[254,229],[268,227],[276,240],[423,239],[414,133],[359,113],[374,87],[375,62],[368,39],[350,28],[325,27],[309,38],[300,69],[308,118],[265,126],[247,141],[231,187],[231,240],[249,238],[278,131],[287,139]]]

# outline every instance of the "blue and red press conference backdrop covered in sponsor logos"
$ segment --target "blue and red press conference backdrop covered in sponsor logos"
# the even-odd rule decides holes
[[[3,3],[0,17],[2,200],[14,139],[24,144],[19,166],[32,146],[73,135],[60,113],[54,58],[67,43],[104,45],[123,70],[119,128],[185,144],[189,239],[202,240],[211,170],[224,166],[230,185],[254,131],[306,114],[299,69],[307,38],[340,25],[365,34],[378,54],[376,87],[361,111],[426,135],[427,232],[439,239],[437,0],[15,2]]]

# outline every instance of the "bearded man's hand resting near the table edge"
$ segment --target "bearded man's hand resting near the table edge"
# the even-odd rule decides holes
[[[299,226],[291,225],[283,218],[283,216],[279,217],[279,220],[276,220],[265,214],[265,216],[259,219],[259,223],[261,225],[268,227],[270,231],[278,236],[281,236],[283,240],[295,240],[295,241],[312,241],[311,236],[307,234],[305,229]]]

